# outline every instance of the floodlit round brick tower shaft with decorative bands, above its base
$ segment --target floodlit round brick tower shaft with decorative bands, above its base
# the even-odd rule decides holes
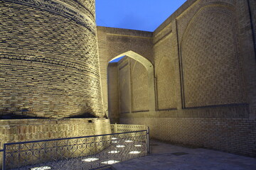
[[[95,0],[0,8],[0,119],[102,117]]]

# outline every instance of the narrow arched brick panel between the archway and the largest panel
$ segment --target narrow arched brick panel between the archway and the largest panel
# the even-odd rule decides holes
[[[173,35],[154,45],[157,105],[159,110],[173,109],[176,103],[176,70]],[[168,76],[166,76],[166,74]]]

